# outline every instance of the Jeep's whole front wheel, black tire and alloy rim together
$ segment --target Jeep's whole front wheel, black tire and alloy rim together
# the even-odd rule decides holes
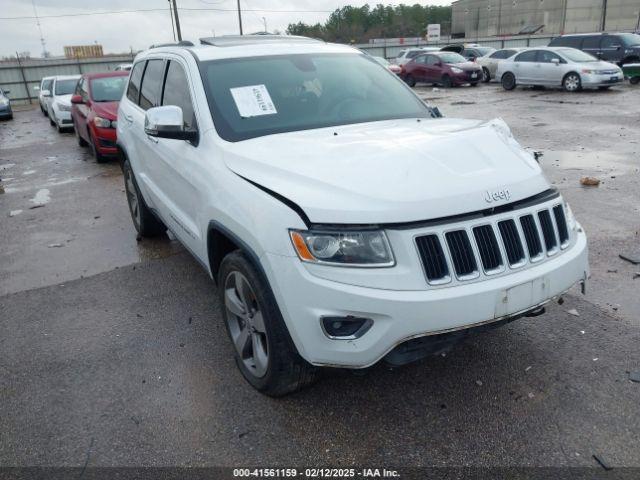
[[[220,264],[218,297],[236,365],[253,388],[279,397],[316,380],[319,369],[298,354],[268,284],[239,250]]]

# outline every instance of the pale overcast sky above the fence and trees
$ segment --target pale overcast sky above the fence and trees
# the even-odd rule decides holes
[[[34,0],[47,50],[62,55],[64,45],[99,43],[105,53],[139,50],[152,43],[173,40],[168,0]],[[182,37],[200,37],[238,33],[236,0],[177,0]],[[262,17],[270,31],[284,31],[289,23],[323,22],[329,13],[344,5],[387,3],[380,0],[241,0],[245,33],[263,30]],[[451,0],[407,0],[391,2],[421,5],[449,5]],[[159,9],[111,15],[78,15],[118,10]],[[219,10],[186,10],[219,9]],[[261,11],[255,11],[261,10]],[[46,18],[75,14],[74,17]],[[31,0],[0,2],[0,56],[28,51],[40,56],[40,34],[34,18],[6,20],[6,17],[33,17]]]

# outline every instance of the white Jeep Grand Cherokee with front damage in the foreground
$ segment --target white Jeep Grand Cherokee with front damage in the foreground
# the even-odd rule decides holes
[[[133,222],[171,230],[216,280],[255,388],[407,363],[584,286],[585,234],[532,154],[500,120],[438,117],[348,46],[137,56],[118,113]]]

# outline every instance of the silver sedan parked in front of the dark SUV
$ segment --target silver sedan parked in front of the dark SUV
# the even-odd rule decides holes
[[[624,80],[622,70],[575,48],[543,47],[526,50],[501,62],[497,76],[505,90],[517,85],[607,89]]]

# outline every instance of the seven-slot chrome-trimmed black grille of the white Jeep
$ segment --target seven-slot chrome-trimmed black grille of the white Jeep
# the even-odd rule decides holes
[[[469,226],[442,226],[415,241],[427,281],[438,285],[452,281],[454,274],[459,281],[478,278],[480,267],[484,275],[497,275],[542,261],[566,248],[569,239],[564,207],[556,204],[505,213],[493,221],[470,220]]]

